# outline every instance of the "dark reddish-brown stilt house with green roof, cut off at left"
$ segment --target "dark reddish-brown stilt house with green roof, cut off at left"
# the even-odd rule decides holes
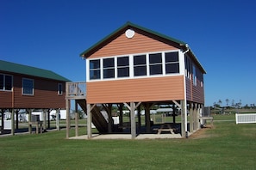
[[[21,109],[26,109],[30,113],[29,118],[34,109],[47,112],[48,117],[51,109],[65,109],[66,82],[70,81],[53,71],[0,60],[1,131],[3,131],[3,112],[5,111],[12,112],[11,133],[14,134],[14,114],[16,114],[17,129],[17,115]],[[48,118],[49,120],[50,118]],[[44,122],[44,126],[46,129],[46,122]]]

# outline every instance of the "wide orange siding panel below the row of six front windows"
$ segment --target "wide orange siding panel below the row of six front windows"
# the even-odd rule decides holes
[[[184,100],[183,76],[87,82],[88,103]]]

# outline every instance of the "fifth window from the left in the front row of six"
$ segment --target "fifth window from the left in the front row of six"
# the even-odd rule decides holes
[[[162,53],[149,54],[149,74],[163,74]]]

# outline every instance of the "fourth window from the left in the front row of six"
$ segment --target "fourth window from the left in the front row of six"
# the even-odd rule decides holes
[[[146,55],[134,56],[134,76],[147,76]]]

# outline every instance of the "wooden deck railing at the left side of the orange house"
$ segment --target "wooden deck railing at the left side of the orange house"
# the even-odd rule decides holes
[[[86,82],[66,82],[67,98],[85,98]]]

